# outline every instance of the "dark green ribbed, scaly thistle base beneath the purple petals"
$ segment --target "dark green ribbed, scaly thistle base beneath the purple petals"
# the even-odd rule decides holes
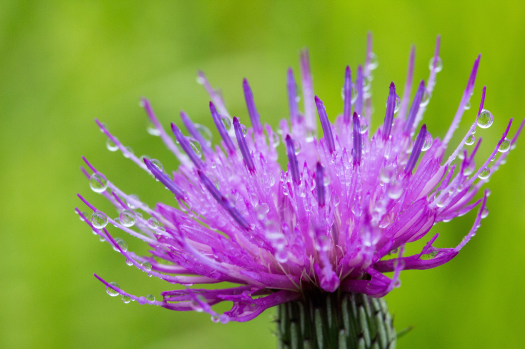
[[[396,332],[383,299],[361,293],[309,293],[277,309],[278,347],[393,349]]]

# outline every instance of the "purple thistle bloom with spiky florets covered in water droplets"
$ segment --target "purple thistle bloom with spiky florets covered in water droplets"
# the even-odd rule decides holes
[[[314,95],[308,51],[300,56],[304,101],[299,111],[297,86],[291,69],[287,73],[290,123],[282,120],[278,131],[264,124],[245,79],[248,115],[232,117],[202,72],[198,80],[208,91],[209,109],[220,135],[212,147],[211,133],[181,112],[189,134],[171,124],[175,141],[159,123],[148,100],[142,100],[152,133],[180,161],[169,173],[155,159],[138,158],[124,147],[106,126],[96,121],[108,136],[108,148],[120,150],[174,195],[173,202],[150,208],[134,195],[121,191],[86,159],[82,168],[91,188],[101,193],[119,212],[111,219],[80,195],[92,214],[76,212],[128,264],[149,275],[186,289],[136,297],[114,283],[96,277],[112,296],[124,302],[137,300],[172,310],[204,311],[214,321],[247,321],[265,309],[298,300],[309,290],[364,293],[383,297],[400,283],[406,269],[428,269],[454,258],[475,235],[488,211],[488,190],[475,199],[516,144],[524,125],[509,140],[512,119],[489,158],[475,165],[477,126],[492,124],[484,109],[486,88],[472,126],[448,158],[445,151],[461,117],[470,105],[480,57],[461,97],[458,110],[443,140],[433,138],[425,124],[419,125],[442,68],[439,37],[430,60],[430,76],[419,83],[414,99],[415,49],[412,48],[403,97],[392,82],[386,96],[384,124],[369,131],[371,118],[371,71],[375,55],[367,46],[364,66],[355,82],[346,67],[343,113],[332,124],[321,99]],[[398,86],[401,86],[400,84]],[[386,91],[385,91],[386,92]],[[317,112],[317,113],[316,113]],[[322,127],[318,136],[316,115]],[[210,122],[211,124],[211,122]],[[276,147],[286,148],[287,167],[277,162]],[[465,146],[472,145],[472,149]],[[494,162],[491,160],[500,152]],[[489,168],[489,164],[491,165]],[[406,243],[423,238],[437,222],[449,221],[478,208],[474,225],[456,247],[437,248],[433,234],[421,251],[404,256]],[[108,224],[109,223],[109,224]],[[151,256],[128,251],[122,239],[114,238],[107,225],[134,236],[151,248]],[[383,273],[393,272],[392,277]],[[238,286],[220,289],[191,288],[194,284],[231,282]],[[222,301],[233,307],[218,314],[212,306]]]

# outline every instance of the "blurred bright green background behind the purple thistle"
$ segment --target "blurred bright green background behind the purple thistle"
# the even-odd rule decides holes
[[[298,52],[310,48],[316,93],[329,116],[342,111],[345,64],[365,56],[374,34],[379,68],[373,81],[374,127],[384,113],[387,86],[404,84],[415,43],[415,79],[427,79],[436,34],[444,69],[425,115],[443,137],[472,62],[482,52],[472,104],[486,84],[495,115],[482,152],[496,143],[510,117],[523,113],[525,10],[520,1],[437,4],[419,1],[0,3],[0,347],[271,348],[274,313],[249,323],[215,324],[208,315],[178,313],[106,295],[93,276],[137,295],[159,298],[170,285],[124,264],[74,214],[81,192],[102,208],[78,170],[92,160],[124,191],[154,204],[170,201],[163,188],[117,153],[93,118],[106,122],[135,154],[176,168],[160,140],[145,132],[138,106],[151,99],[165,125],[184,108],[209,123],[208,97],[195,82],[204,70],[220,87],[230,112],[246,120],[241,79],[249,79],[264,121],[287,117],[285,74],[298,74]],[[466,113],[466,131],[476,107]],[[379,121],[378,121],[379,120]],[[516,129],[517,125],[512,127]],[[459,132],[457,137],[459,138]],[[454,144],[454,141],[453,141]],[[489,183],[490,215],[478,235],[445,266],[405,271],[388,295],[401,330],[415,329],[400,348],[520,347],[525,326],[525,142]],[[439,247],[455,246],[473,216],[439,224]],[[127,238],[130,248],[140,244]],[[144,247],[142,247],[142,250]]]

